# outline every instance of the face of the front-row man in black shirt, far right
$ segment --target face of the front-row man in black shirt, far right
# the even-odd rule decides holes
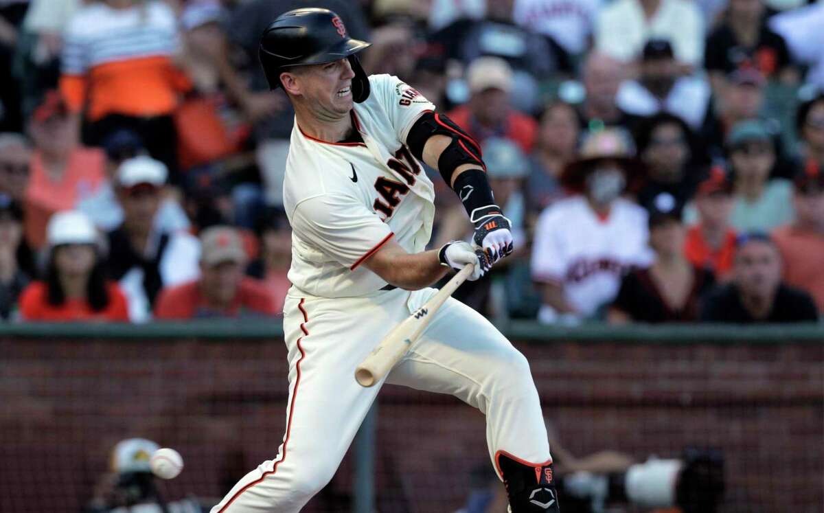
[[[735,256],[735,278],[744,294],[770,294],[781,280],[778,251],[769,242],[746,242]]]

